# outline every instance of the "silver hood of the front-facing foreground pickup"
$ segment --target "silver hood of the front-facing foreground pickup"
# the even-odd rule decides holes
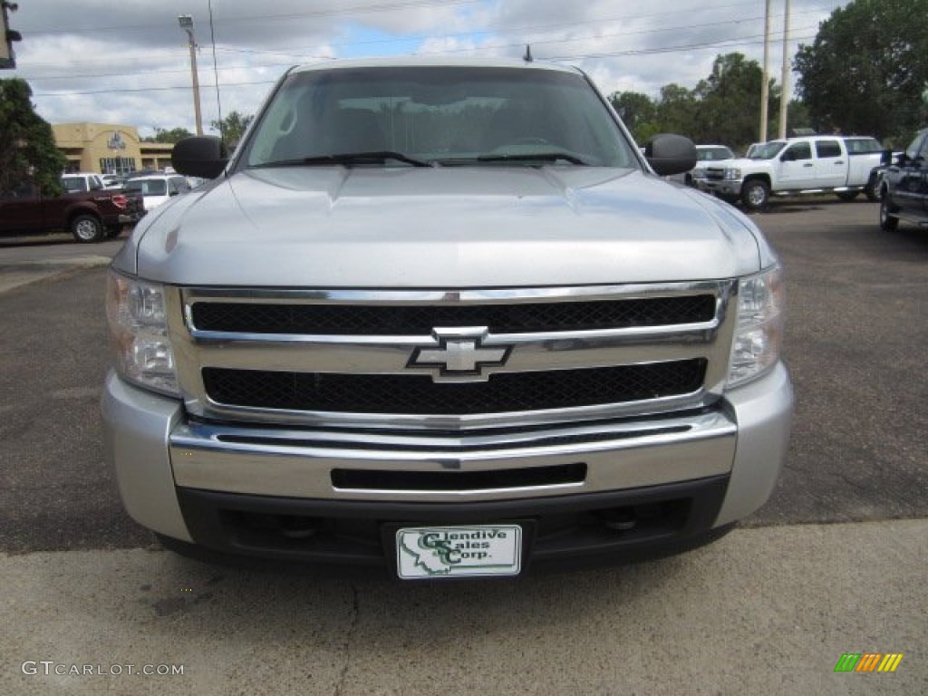
[[[715,279],[772,259],[741,213],[633,170],[291,167],[176,198],[114,265],[180,285],[403,289]]]

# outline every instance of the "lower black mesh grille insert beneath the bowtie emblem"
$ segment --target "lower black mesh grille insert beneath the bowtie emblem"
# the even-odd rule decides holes
[[[469,415],[599,406],[693,393],[703,358],[550,372],[506,372],[485,382],[433,382],[428,375],[277,372],[204,367],[219,404],[299,411]]]

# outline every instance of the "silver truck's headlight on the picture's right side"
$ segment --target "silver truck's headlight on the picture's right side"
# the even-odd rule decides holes
[[[728,387],[754,380],[776,365],[783,342],[786,296],[780,266],[741,278],[738,325],[728,362]]]

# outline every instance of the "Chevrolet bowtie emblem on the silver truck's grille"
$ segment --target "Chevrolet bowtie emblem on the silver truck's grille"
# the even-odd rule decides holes
[[[417,348],[406,367],[428,370],[434,381],[488,380],[483,368],[504,365],[512,347],[485,346],[486,334],[486,327],[432,329],[438,345]]]

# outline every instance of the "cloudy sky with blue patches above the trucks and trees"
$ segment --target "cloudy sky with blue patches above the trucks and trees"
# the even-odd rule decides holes
[[[606,94],[691,88],[715,56],[763,58],[765,0],[16,0],[18,76],[46,121],[195,130],[187,33],[194,20],[204,131],[257,110],[290,65],[386,55],[519,58],[582,67]],[[771,0],[780,82],[786,0]],[[792,0],[791,55],[847,0]],[[212,11],[212,28],[211,28]],[[212,30],[212,31],[211,31]],[[791,83],[794,78],[791,77]],[[218,89],[217,89],[218,84]]]

